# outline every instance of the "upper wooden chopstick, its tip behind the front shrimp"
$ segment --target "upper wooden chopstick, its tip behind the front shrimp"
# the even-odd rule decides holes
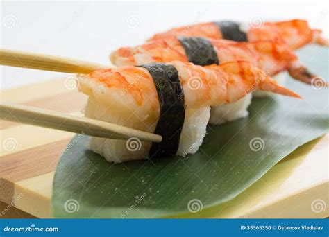
[[[90,73],[98,69],[108,69],[103,64],[84,62],[71,58],[12,51],[0,49],[0,64],[12,67],[24,67],[45,71],[60,71],[65,73]]]

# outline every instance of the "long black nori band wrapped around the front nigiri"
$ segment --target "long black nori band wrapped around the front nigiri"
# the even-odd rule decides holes
[[[152,143],[149,157],[176,155],[180,133],[185,120],[184,91],[177,69],[164,63],[145,64],[151,74],[158,92],[160,103],[160,118],[155,128],[155,134],[162,136],[160,143]]]

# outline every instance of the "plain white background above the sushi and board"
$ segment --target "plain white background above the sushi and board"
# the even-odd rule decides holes
[[[1,48],[109,64],[110,51],[196,22],[307,19],[328,29],[328,1],[88,2],[1,1]],[[328,36],[328,31],[325,32]],[[1,67],[1,89],[64,73]]]

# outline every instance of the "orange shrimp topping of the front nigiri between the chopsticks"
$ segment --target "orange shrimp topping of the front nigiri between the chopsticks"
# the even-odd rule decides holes
[[[256,89],[301,98],[293,91],[278,85],[275,80],[250,62],[228,62],[208,67],[180,61],[169,62],[169,64],[178,71],[185,104],[188,107],[199,108],[233,103]],[[134,101],[138,107],[158,109],[153,104],[154,101],[158,101],[153,78],[143,67],[102,69],[80,80],[82,80],[81,85],[86,85],[88,80],[92,80],[121,96],[128,96],[128,100],[123,100],[129,103]],[[195,84],[198,86],[195,87]]]

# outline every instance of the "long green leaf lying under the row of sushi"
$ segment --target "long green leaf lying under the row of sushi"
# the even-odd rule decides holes
[[[312,46],[300,55],[327,78],[328,49]],[[254,99],[248,118],[209,126],[201,149],[189,157],[110,164],[87,149],[86,136],[76,135],[56,169],[53,216],[162,218],[193,212],[187,209],[192,201],[210,209],[235,198],[289,153],[328,131],[328,90],[293,80],[287,87],[304,99]]]

